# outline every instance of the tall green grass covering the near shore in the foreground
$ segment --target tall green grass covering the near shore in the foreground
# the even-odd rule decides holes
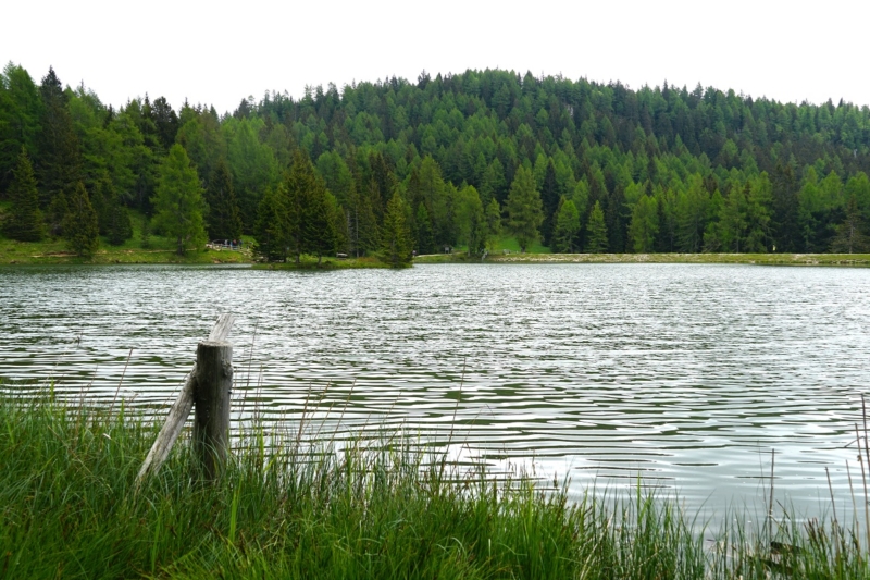
[[[637,493],[572,504],[407,440],[330,453],[288,433],[269,454],[254,429],[219,483],[196,478],[182,445],[136,490],[156,425],[129,409],[2,397],[2,578],[870,576],[858,529],[780,522],[779,554],[763,527],[710,542],[674,502]]]

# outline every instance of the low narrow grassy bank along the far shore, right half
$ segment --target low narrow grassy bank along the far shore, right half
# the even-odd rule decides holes
[[[747,263],[761,266],[870,266],[870,254],[490,254],[418,256],[414,263]]]

